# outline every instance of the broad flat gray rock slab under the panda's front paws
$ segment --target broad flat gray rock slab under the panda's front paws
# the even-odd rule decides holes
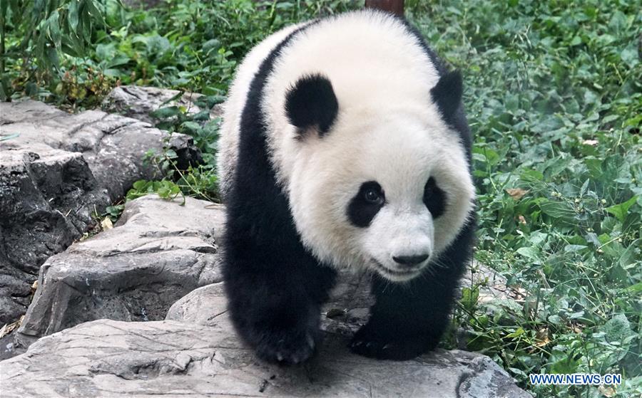
[[[381,362],[327,334],[307,364],[277,367],[255,359],[226,313],[208,323],[96,320],[44,337],[0,362],[3,397],[529,397],[471,352]]]

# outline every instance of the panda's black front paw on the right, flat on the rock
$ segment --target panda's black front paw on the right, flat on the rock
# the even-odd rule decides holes
[[[377,360],[412,360],[437,346],[439,339],[427,335],[381,335],[365,325],[350,342],[350,350]]]

